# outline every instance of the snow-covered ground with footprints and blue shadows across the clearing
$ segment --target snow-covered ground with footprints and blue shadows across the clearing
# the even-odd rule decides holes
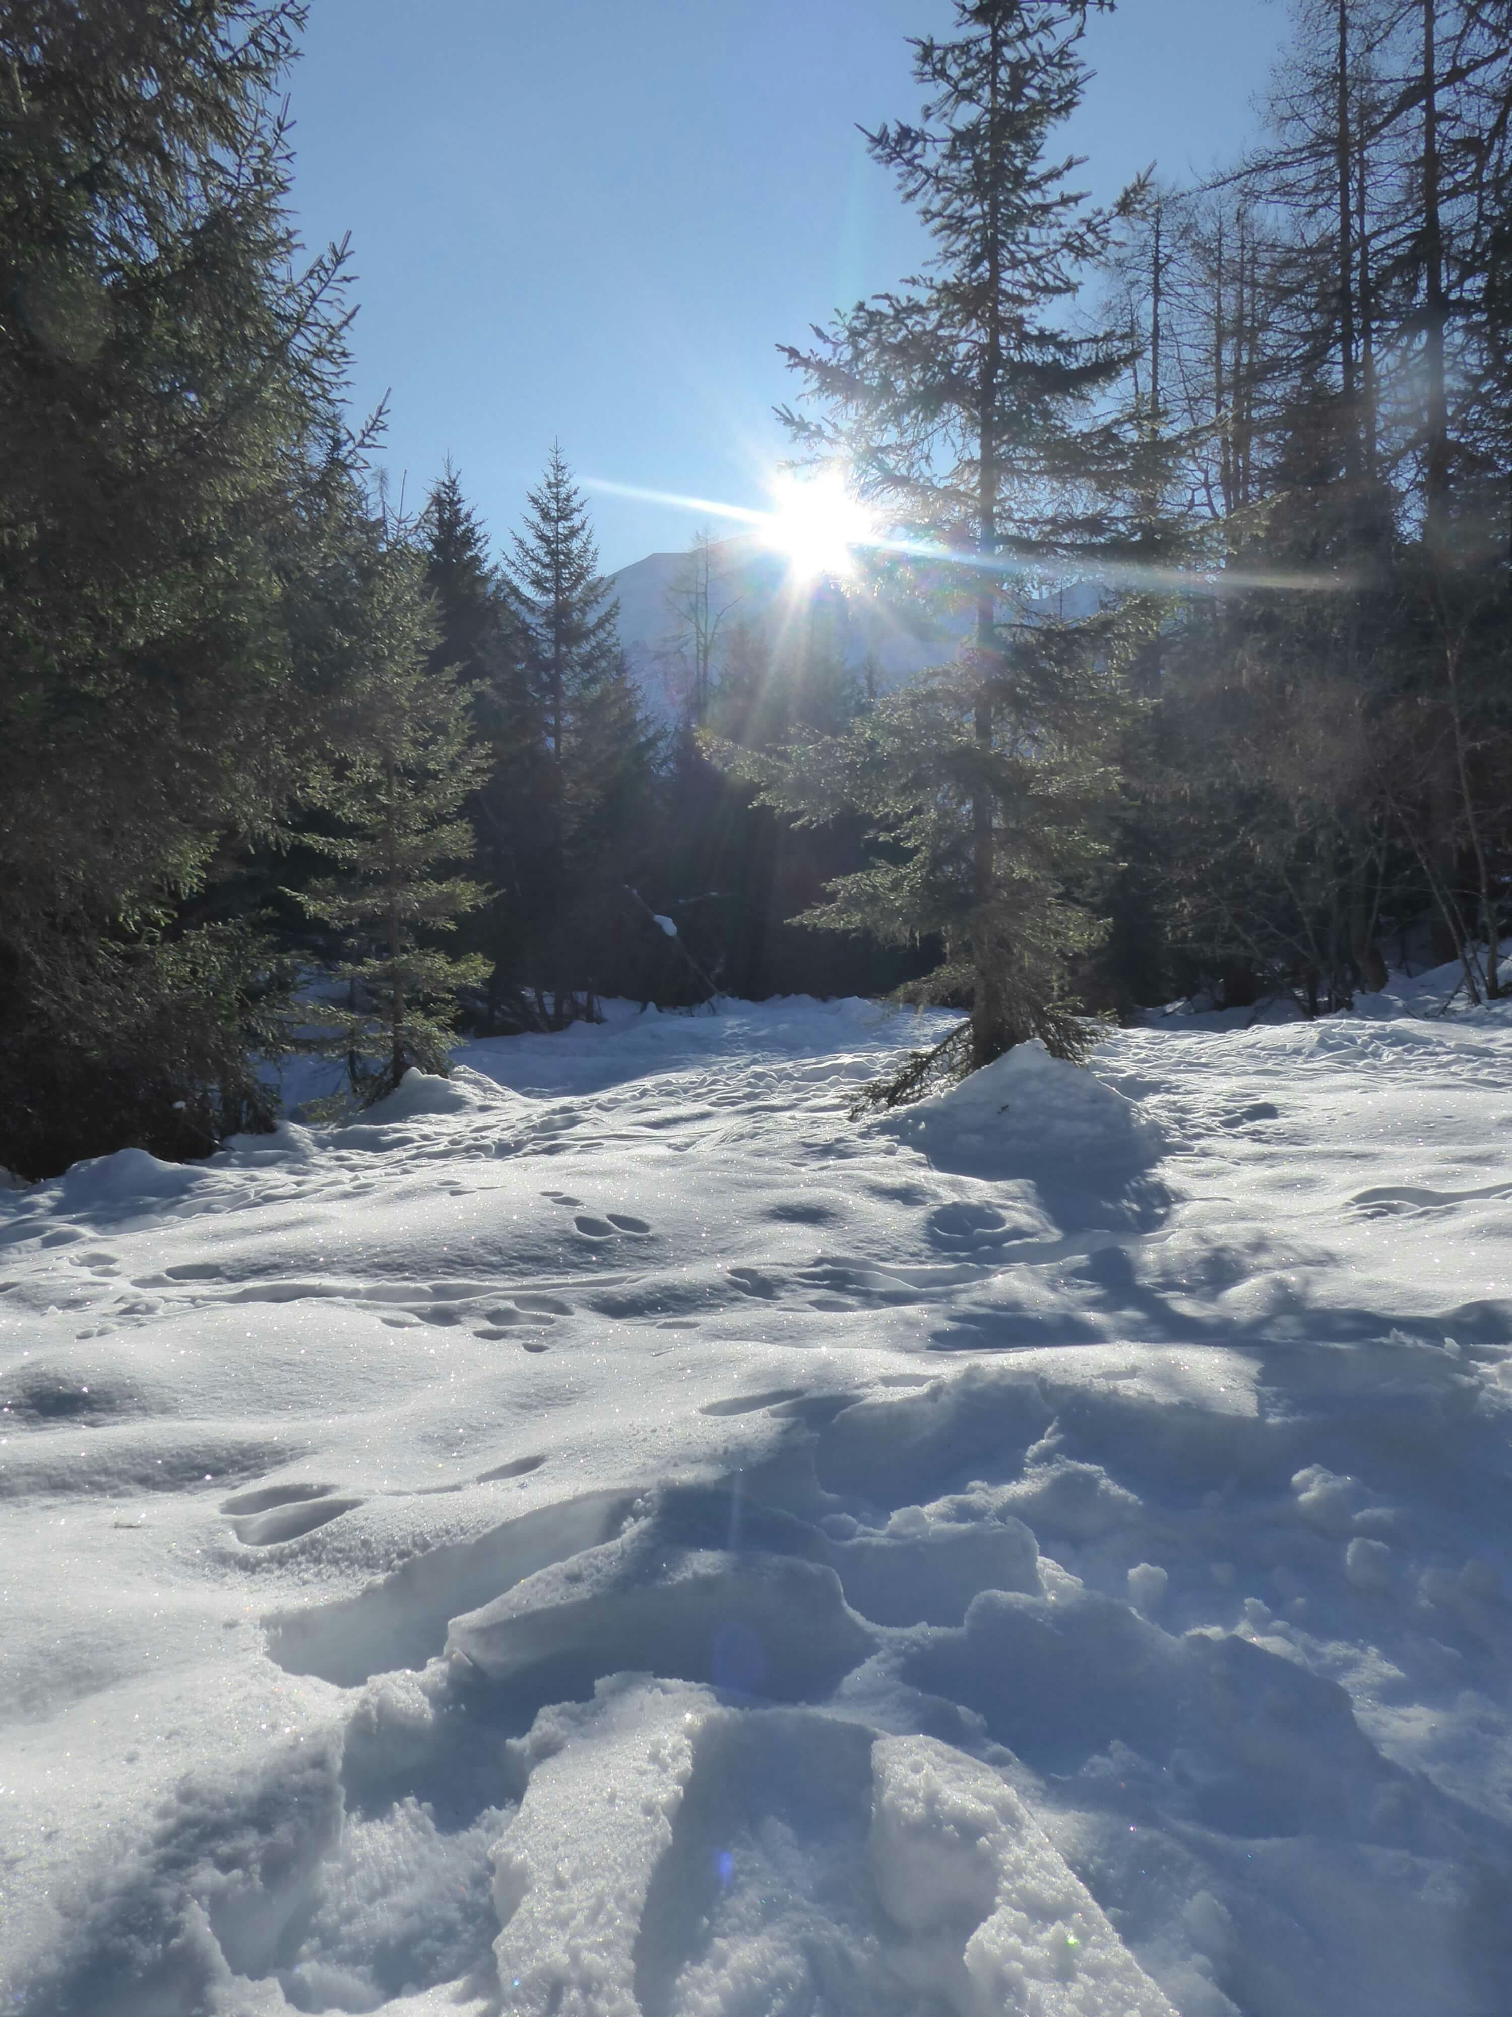
[[[911,1019],[621,1013],[0,1194],[4,2007],[1502,2017],[1450,982],[861,1125]]]

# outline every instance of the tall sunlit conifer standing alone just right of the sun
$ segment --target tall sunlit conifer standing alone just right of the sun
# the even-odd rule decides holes
[[[1129,444],[1091,407],[1123,369],[1107,337],[1054,319],[1113,228],[1046,155],[1081,101],[1089,0],[956,0],[952,40],[913,42],[931,93],[883,125],[873,157],[917,206],[935,254],[903,292],[857,305],[818,349],[788,349],[810,454],[847,466],[915,537],[950,551],[972,643],[841,742],[796,750],[768,795],[798,817],[863,809],[893,859],[841,879],[810,922],[885,940],[943,936],[931,990],[970,998],[970,1063],[1028,1037],[1083,1047],[1066,958],[1095,936],[1066,887],[1097,851],[1093,754],[1115,710],[1121,623],[1030,609],[1046,565],[1139,555]]]

